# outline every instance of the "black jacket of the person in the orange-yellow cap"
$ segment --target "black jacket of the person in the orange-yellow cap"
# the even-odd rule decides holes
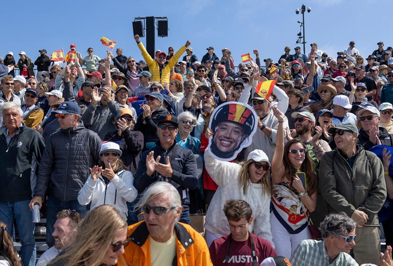
[[[119,144],[120,150],[122,151],[121,160],[129,167],[131,173],[135,176],[140,154],[143,149],[143,134],[140,131],[126,129],[121,136],[119,136],[117,130],[115,130],[107,133],[104,140]]]

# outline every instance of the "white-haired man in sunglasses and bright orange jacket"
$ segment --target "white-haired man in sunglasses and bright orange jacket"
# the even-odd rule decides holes
[[[178,222],[182,206],[174,186],[152,184],[137,208],[142,210],[144,221],[128,227],[119,266],[213,266],[206,241],[190,225]]]

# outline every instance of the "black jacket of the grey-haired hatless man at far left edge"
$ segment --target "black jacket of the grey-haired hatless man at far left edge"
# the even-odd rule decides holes
[[[7,145],[4,127],[0,128],[0,201],[31,199],[36,170],[44,152],[44,139],[23,123]]]

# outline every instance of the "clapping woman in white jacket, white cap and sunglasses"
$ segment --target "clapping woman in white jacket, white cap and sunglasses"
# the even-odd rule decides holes
[[[81,205],[91,202],[90,210],[104,204],[112,205],[127,219],[127,201],[134,201],[138,195],[133,186],[134,177],[119,159],[121,150],[118,144],[103,143],[100,156],[103,164],[90,168],[90,175],[79,191],[78,202]]]

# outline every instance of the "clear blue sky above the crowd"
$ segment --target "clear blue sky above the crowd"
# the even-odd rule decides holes
[[[224,47],[232,51],[235,63],[240,55],[257,48],[261,59],[278,60],[285,46],[296,46],[302,4],[311,7],[306,13],[306,50],[317,42],[318,48],[337,56],[351,40],[367,56],[384,41],[393,46],[392,0],[323,0],[323,1],[116,1],[116,0],[0,0],[0,56],[8,51],[25,51],[33,61],[39,49],[48,54],[69,51],[71,43],[83,56],[88,47],[103,57],[105,36],[116,40],[123,54],[142,59],[133,39],[131,22],[135,17],[168,17],[168,37],[156,37],[156,50],[175,51],[186,40],[201,59],[213,46],[221,57]],[[386,10],[386,13],[384,12]],[[145,38],[141,38],[145,44]],[[303,52],[303,46],[300,45]]]

